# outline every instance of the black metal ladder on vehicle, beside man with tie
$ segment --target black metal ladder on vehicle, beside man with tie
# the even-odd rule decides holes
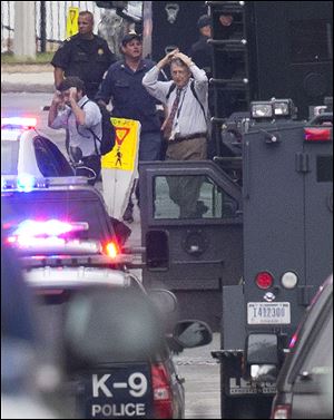
[[[212,17],[213,77],[209,80],[214,96],[213,134],[217,153],[220,149],[222,125],[233,113],[249,109],[249,70],[245,1],[206,1]],[[224,22],[225,14],[233,21]],[[226,26],[224,23],[230,23]]]

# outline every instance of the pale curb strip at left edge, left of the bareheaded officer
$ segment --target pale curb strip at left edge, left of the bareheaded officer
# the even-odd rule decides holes
[[[1,92],[53,91],[51,65],[1,65]]]

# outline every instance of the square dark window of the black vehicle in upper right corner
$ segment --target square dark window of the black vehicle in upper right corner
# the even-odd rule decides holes
[[[323,19],[289,22],[291,62],[318,62],[331,59],[332,26]]]

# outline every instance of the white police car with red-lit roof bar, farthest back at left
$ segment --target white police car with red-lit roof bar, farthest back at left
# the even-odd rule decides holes
[[[36,125],[36,118],[1,118],[1,175],[72,176],[66,157]]]

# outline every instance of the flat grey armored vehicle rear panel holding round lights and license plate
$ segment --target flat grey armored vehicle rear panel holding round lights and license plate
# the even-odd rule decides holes
[[[244,273],[249,329],[274,324],[292,329],[311,302],[303,152],[303,123],[258,125],[245,136]],[[284,274],[296,279],[293,287],[284,286]],[[259,275],[271,284],[259,285]]]

